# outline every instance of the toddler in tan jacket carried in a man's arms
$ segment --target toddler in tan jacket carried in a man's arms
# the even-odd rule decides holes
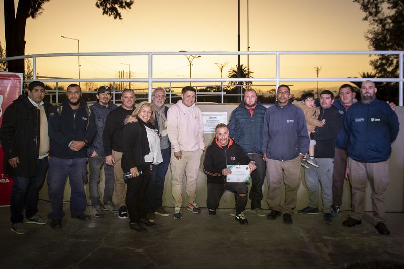
[[[322,121],[317,119],[320,114],[320,108],[314,105],[313,93],[309,92],[302,94],[301,100],[302,101],[300,102],[293,101],[293,104],[300,107],[305,113],[307,132],[310,138],[310,133],[314,132],[315,127],[322,127],[325,124],[325,119],[323,119]],[[316,141],[311,139],[309,146],[309,158],[307,158],[306,154],[305,157],[301,160],[301,165],[307,169],[310,169],[308,163],[315,167],[319,167],[316,159],[314,158],[314,145],[316,145]]]

